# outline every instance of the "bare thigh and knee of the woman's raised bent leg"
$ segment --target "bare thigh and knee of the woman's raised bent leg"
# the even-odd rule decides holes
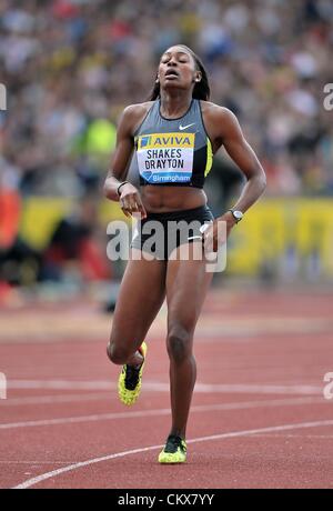
[[[113,363],[138,365],[142,355],[137,351],[158,314],[165,297],[167,262],[131,257],[117,299],[108,355]],[[137,260],[138,259],[138,260]]]

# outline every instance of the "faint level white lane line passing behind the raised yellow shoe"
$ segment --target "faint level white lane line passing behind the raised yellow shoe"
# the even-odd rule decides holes
[[[54,389],[54,390],[112,390],[115,382],[108,380],[74,381],[74,380],[9,380],[8,389]],[[170,392],[169,382],[144,381],[144,388],[153,392]],[[319,394],[320,385],[304,384],[262,384],[262,383],[201,383],[195,384],[195,392],[211,393],[261,393],[261,394]]]

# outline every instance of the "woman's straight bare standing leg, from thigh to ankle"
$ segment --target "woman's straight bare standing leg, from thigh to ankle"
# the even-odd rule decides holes
[[[193,334],[213,274],[205,270],[204,259],[193,258],[193,251],[200,250],[200,246],[201,243],[198,242],[180,246],[176,249],[178,258],[169,259],[167,268],[167,347],[170,358],[171,434],[182,438],[185,438],[196,377]],[[181,260],[180,255],[188,252],[189,260]]]

